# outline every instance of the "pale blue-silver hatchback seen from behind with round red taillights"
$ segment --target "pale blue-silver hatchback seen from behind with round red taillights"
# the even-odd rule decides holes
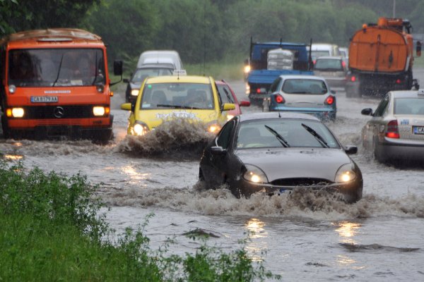
[[[336,92],[315,75],[281,75],[264,99],[263,111],[312,114],[322,120],[336,119]]]

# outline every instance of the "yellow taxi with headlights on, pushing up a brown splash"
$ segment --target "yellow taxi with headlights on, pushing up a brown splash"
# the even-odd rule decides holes
[[[188,118],[201,121],[208,131],[218,133],[235,104],[222,103],[215,80],[196,75],[146,78],[133,103],[121,105],[131,111],[127,133],[144,135],[164,121]]]

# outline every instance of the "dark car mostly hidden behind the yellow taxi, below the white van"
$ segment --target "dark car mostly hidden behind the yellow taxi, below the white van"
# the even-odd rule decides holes
[[[149,76],[172,75],[174,68],[167,64],[156,63],[146,64],[137,68],[129,80],[124,80],[127,83],[125,90],[125,102],[133,102],[137,99],[141,83]]]

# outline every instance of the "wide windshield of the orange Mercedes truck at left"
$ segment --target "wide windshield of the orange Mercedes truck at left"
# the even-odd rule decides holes
[[[105,84],[102,49],[12,49],[8,85],[17,87]]]

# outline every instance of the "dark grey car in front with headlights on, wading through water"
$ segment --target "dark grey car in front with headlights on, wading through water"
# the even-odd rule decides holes
[[[225,123],[206,146],[199,180],[207,188],[226,184],[236,197],[304,188],[339,192],[346,202],[356,202],[363,178],[348,154],[357,151],[343,147],[314,116],[242,114]]]

